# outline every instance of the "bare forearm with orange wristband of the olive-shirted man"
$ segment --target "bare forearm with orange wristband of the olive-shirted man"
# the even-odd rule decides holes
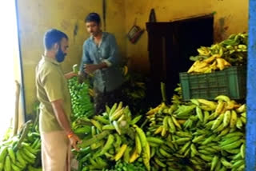
[[[68,121],[66,117],[66,113],[63,109],[63,102],[62,99],[52,101],[51,105],[54,109],[54,114],[57,118],[58,124],[61,125],[62,129],[65,130],[66,135],[70,139],[70,144],[74,147],[74,149],[78,150],[77,143],[80,141],[78,136],[76,136],[70,127],[70,122]]]

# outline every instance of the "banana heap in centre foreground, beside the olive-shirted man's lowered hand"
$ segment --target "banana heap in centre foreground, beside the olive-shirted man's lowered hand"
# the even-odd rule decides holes
[[[86,125],[86,136],[74,152],[79,161],[78,170],[111,169],[117,161],[142,161],[150,170],[150,145],[144,131],[136,125],[141,115],[132,118],[122,101],[106,105],[106,112],[91,119],[80,120]]]

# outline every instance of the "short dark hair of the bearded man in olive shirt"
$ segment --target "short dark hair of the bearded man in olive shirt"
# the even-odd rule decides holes
[[[43,38],[46,50],[50,50],[55,43],[61,42],[62,38],[68,39],[67,35],[62,31],[56,29],[47,30]]]

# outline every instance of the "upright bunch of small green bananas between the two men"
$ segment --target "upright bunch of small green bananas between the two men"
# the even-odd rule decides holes
[[[89,88],[86,82],[81,84],[78,82],[78,77],[70,78],[68,81],[72,111],[74,113],[73,121],[78,117],[90,117],[94,113],[94,105],[90,101],[90,96],[94,96],[94,92]]]

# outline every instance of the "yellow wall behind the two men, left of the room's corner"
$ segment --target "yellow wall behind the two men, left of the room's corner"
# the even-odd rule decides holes
[[[102,16],[102,0],[20,0],[18,2],[19,34],[26,93],[26,113],[32,112],[36,100],[34,70],[43,54],[42,38],[46,30],[57,28],[70,38],[69,54],[62,68],[71,70],[82,57],[82,43],[88,34],[84,18],[90,12]],[[77,34],[74,28],[78,26]],[[122,55],[126,54],[124,4],[120,0],[106,1],[106,31],[116,35]]]

